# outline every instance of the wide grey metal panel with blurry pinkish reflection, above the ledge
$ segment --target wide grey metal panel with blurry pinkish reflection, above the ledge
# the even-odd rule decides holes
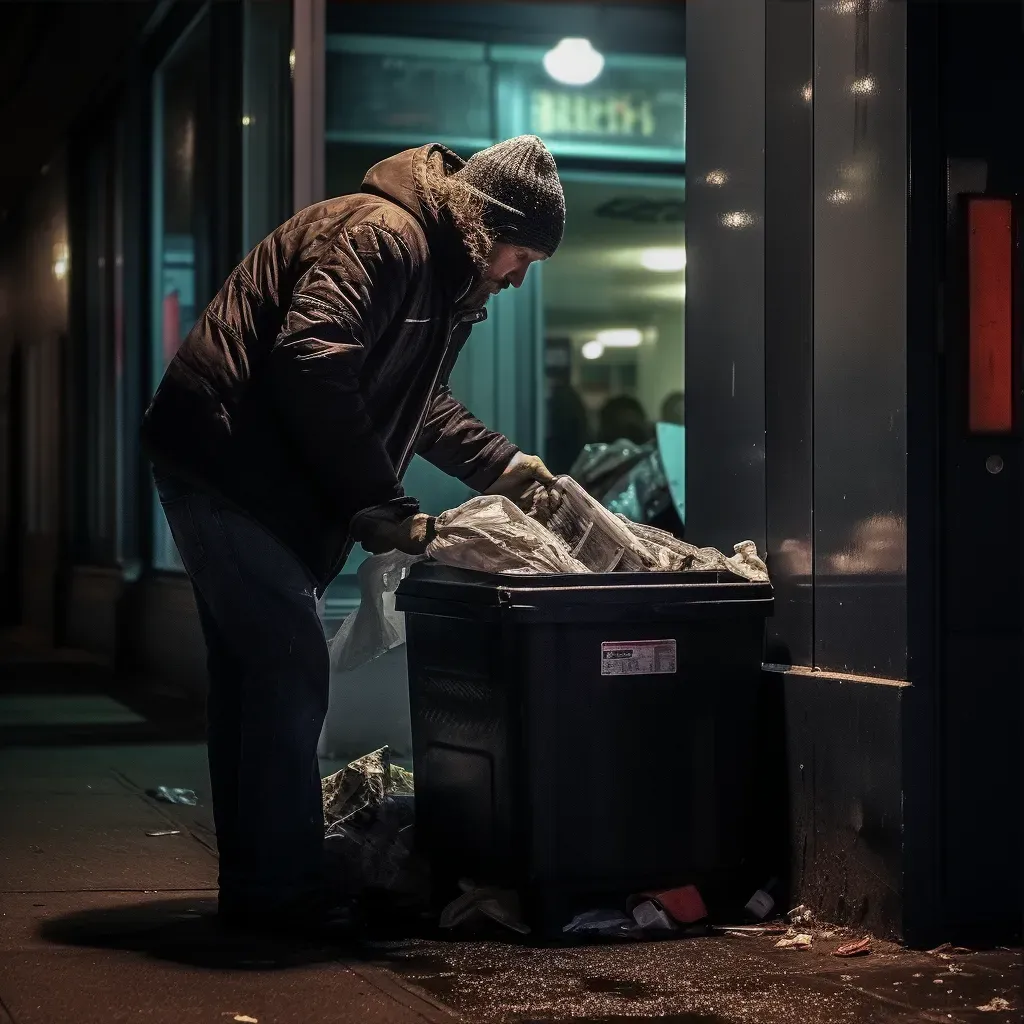
[[[906,678],[906,5],[814,6],[814,664]]]

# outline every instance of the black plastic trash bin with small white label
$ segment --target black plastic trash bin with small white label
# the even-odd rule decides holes
[[[772,603],[727,572],[415,566],[396,607],[435,888],[517,889],[557,935],[631,893],[741,873]]]

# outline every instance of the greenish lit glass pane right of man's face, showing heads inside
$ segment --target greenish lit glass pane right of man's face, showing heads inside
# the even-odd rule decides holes
[[[632,517],[679,532],[655,426],[684,422],[683,182],[567,173],[563,184],[565,238],[544,267],[545,457],[605,504],[622,502],[617,487],[634,496]]]

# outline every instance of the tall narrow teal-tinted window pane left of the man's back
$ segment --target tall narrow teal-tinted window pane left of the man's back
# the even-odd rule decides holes
[[[209,70],[209,24],[203,16],[154,77],[151,392],[211,297],[202,174]],[[154,565],[180,569],[158,502],[154,509]]]

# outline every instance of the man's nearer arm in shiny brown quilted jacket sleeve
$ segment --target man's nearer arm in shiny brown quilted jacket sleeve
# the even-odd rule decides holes
[[[296,285],[270,352],[281,421],[341,521],[402,497],[360,393],[359,371],[414,272],[412,253],[393,232],[353,228]]]

